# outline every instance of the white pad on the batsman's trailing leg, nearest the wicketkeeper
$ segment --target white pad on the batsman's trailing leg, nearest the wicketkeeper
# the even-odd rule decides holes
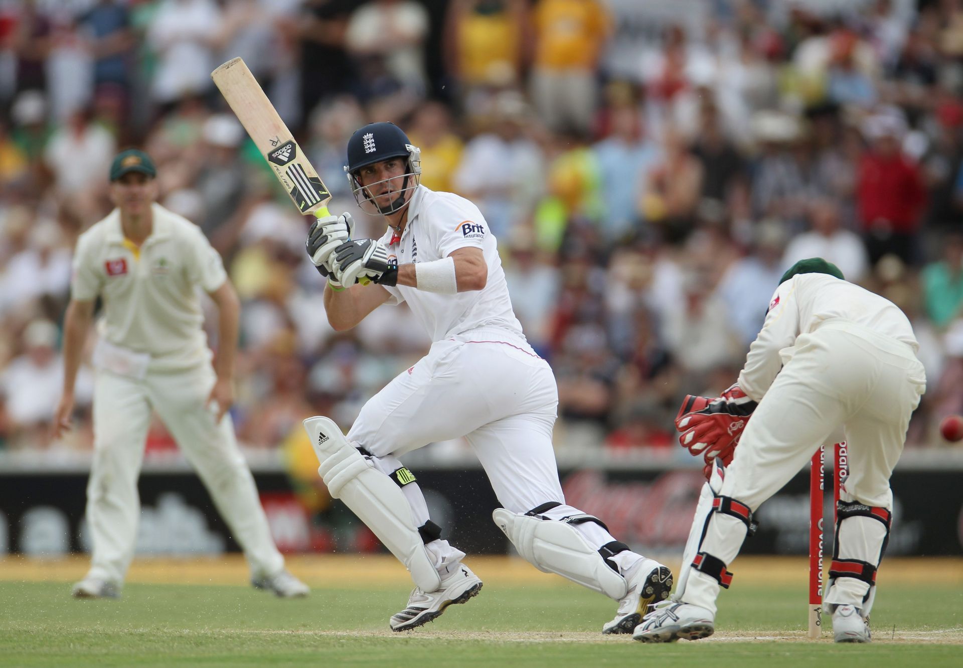
[[[605,526],[591,515],[574,515],[563,520],[541,515],[559,505],[547,503],[525,514],[498,508],[492,513],[492,519],[518,553],[539,571],[559,574],[615,601],[623,598],[628,593],[628,585],[611,557],[628,546],[617,541],[601,549],[589,545],[575,525],[594,521]]]

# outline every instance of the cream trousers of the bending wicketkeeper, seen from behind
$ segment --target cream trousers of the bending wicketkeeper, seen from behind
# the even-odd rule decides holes
[[[841,318],[799,335],[781,355],[782,371],[749,419],[719,494],[755,512],[842,426],[849,477],[840,498],[892,512],[890,476],[924,393],[923,364],[906,343]],[[703,521],[696,518],[700,525]],[[841,536],[841,548],[849,557],[875,563],[885,529],[874,520],[869,524],[872,535]],[[744,536],[742,521],[716,515],[701,549],[731,564]],[[862,605],[867,589],[858,580],[841,578],[826,601]],[[718,590],[714,578],[693,571],[683,600],[715,611]]]

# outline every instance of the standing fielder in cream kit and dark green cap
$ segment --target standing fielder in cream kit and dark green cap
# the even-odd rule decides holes
[[[58,434],[70,426],[74,379],[98,296],[104,313],[93,352],[91,570],[73,595],[120,594],[134,556],[141,509],[137,480],[156,411],[244,548],[251,583],[280,597],[304,596],[308,588],[284,569],[274,547],[226,413],[233,400],[237,295],[221,255],[200,228],[154,201],[155,175],[143,151],[119,153],[110,171],[117,208],[80,236],[74,254]],[[213,366],[196,288],[206,291],[219,311],[221,340]]]

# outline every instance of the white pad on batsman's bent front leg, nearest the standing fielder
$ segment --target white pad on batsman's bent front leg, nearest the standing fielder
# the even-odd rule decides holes
[[[395,480],[378,470],[342,434],[332,420],[316,416],[304,420],[321,466],[318,473],[332,498],[340,498],[367,524],[378,540],[404,564],[415,584],[426,592],[441,586],[423,535],[411,517],[408,502]],[[430,527],[422,527],[423,530]],[[439,532],[440,534],[440,532]]]

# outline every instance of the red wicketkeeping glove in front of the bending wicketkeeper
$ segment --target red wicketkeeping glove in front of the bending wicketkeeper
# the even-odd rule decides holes
[[[675,418],[675,428],[682,432],[679,442],[692,456],[702,455],[706,464],[720,457],[728,465],[755,408],[756,402],[738,385],[715,398],[690,394]]]

